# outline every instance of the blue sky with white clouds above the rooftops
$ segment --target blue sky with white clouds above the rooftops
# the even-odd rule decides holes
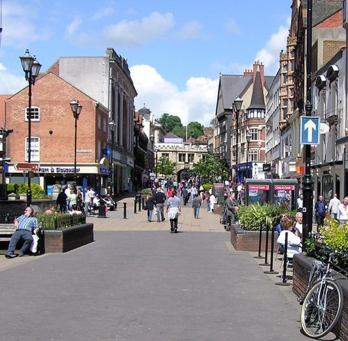
[[[127,58],[136,110],[205,126],[214,118],[219,74],[255,60],[274,76],[286,47],[291,0],[0,0],[0,94],[26,86],[29,48],[45,72],[61,56]],[[35,88],[33,88],[33,92]],[[70,99],[68,99],[70,100]]]

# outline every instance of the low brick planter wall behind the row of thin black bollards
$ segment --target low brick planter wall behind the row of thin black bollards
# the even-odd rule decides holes
[[[274,234],[274,252],[278,250],[278,244],[276,242],[278,234]],[[258,251],[260,231],[246,231],[239,225],[232,225],[230,231],[231,244],[237,251]],[[261,238],[261,251],[266,249],[266,231],[262,231]],[[271,231],[269,231],[268,238],[268,251],[271,251]]]

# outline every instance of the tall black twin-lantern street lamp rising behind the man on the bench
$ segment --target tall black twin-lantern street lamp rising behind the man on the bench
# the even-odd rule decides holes
[[[25,73],[26,81],[29,83],[28,90],[28,110],[26,117],[28,118],[28,143],[27,143],[27,158],[28,163],[31,163],[31,85],[35,85],[35,79],[38,76],[41,64],[36,60],[35,55],[32,57],[29,54],[29,49],[26,49],[24,56],[19,57]],[[26,192],[26,206],[31,206],[31,176],[28,172],[28,190]]]

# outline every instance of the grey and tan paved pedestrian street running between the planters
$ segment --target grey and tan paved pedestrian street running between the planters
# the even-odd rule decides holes
[[[0,340],[307,340],[291,287],[235,251],[205,206],[200,219],[184,206],[177,234],[132,198],[107,215],[88,217],[84,247],[0,258]]]

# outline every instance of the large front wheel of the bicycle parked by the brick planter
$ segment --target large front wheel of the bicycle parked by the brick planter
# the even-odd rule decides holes
[[[343,308],[343,293],[340,285],[332,279],[313,284],[301,309],[301,326],[310,338],[322,338],[331,331],[340,318]]]

